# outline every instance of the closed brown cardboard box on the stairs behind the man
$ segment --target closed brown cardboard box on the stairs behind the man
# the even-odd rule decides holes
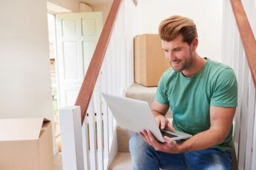
[[[157,86],[170,64],[161,48],[158,34],[143,34],[134,38],[135,82],[147,87]]]

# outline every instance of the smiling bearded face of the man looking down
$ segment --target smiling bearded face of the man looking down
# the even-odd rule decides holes
[[[161,40],[161,47],[164,49],[164,54],[174,71],[180,72],[190,68],[194,51],[192,45],[193,42],[191,45],[188,45],[187,42],[182,42],[181,34],[170,42]]]

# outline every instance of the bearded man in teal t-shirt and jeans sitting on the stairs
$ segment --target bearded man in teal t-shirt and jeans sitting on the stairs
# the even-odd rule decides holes
[[[188,140],[150,131],[129,141],[133,169],[231,169],[232,120],[237,80],[226,65],[196,53],[198,37],[191,19],[172,16],[159,26],[161,46],[172,68],[159,81],[152,111],[160,128],[193,134]],[[173,125],[164,116],[173,111]]]

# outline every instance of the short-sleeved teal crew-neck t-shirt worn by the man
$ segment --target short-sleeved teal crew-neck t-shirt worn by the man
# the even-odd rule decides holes
[[[211,105],[237,106],[237,79],[231,68],[211,59],[192,77],[169,68],[161,76],[155,99],[170,106],[174,128],[194,135],[210,128]],[[232,130],[233,127],[225,141],[214,148],[230,151]]]

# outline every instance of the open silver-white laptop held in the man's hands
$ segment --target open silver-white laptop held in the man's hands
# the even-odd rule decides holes
[[[170,137],[173,140],[184,140],[192,137],[191,134],[186,134],[182,131],[160,131],[153,117],[150,105],[147,102],[110,94],[102,93],[102,95],[110,111],[112,111],[116,122],[123,128],[135,132],[150,130],[161,143],[165,142],[164,136]]]

